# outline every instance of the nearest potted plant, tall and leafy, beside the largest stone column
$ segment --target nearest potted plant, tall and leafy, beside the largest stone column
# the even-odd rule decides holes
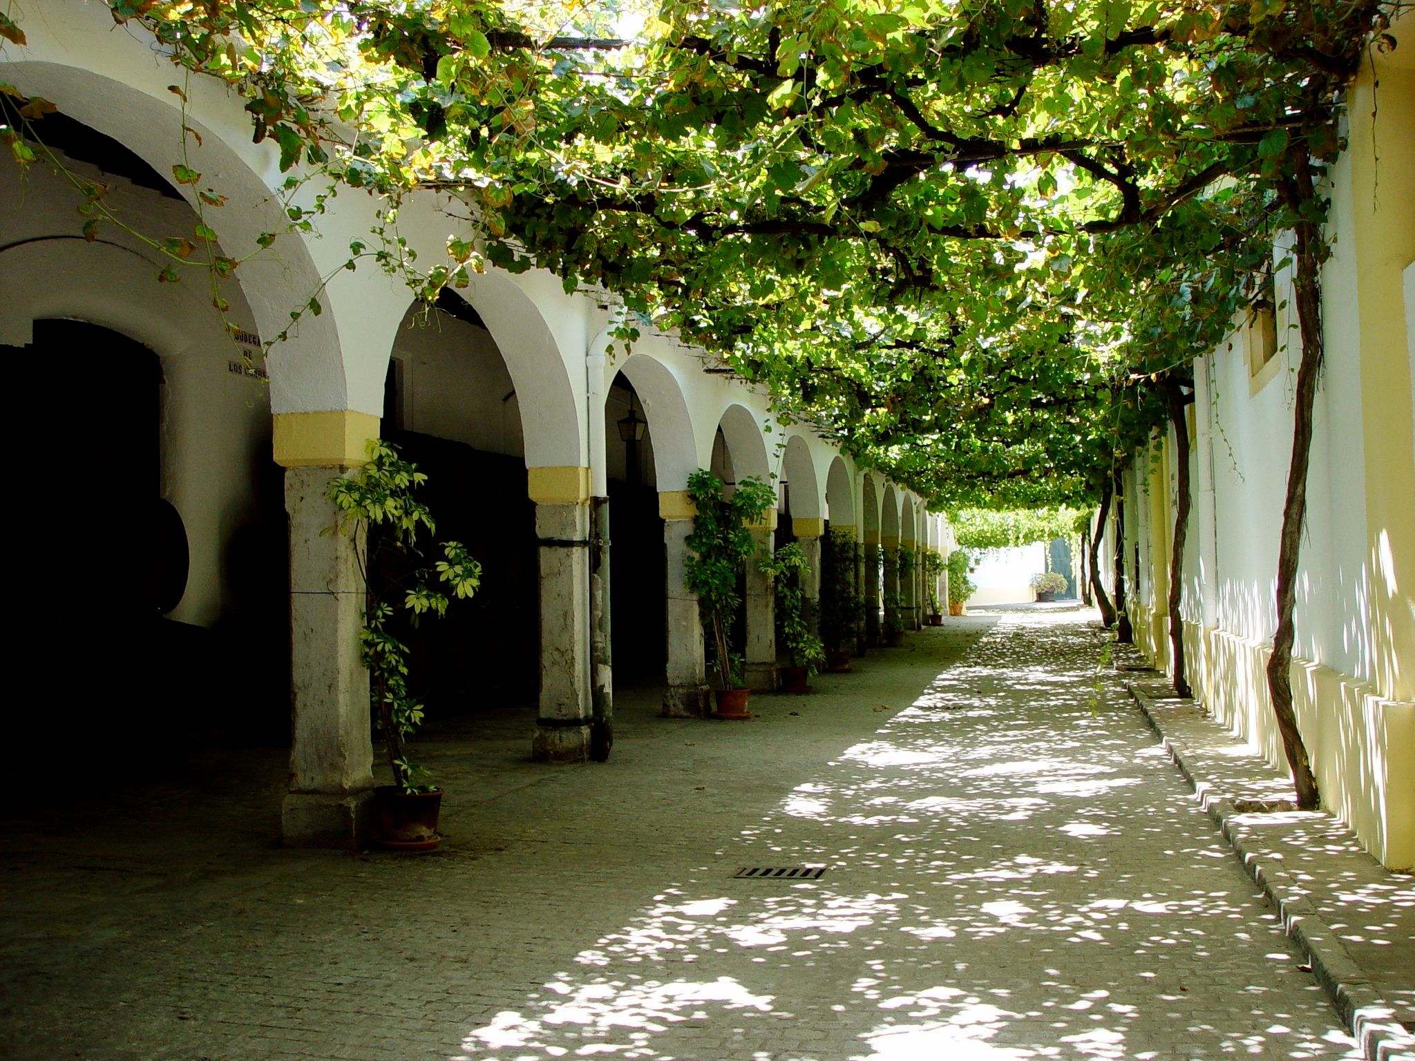
[[[424,709],[408,688],[402,628],[416,627],[424,615],[444,615],[451,597],[471,597],[481,586],[481,564],[460,542],[443,542],[443,559],[429,564],[420,538],[437,528],[415,497],[426,481],[396,447],[372,439],[368,463],[328,488],[337,511],[328,530],[352,538],[364,576],[361,658],[393,775],[392,785],[374,789],[375,842],[392,850],[432,850],[441,843],[441,789],[427,784],[426,768],[408,757],[408,738],[422,726]]]

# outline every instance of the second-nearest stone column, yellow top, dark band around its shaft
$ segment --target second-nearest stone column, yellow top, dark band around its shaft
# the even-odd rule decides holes
[[[528,468],[541,545],[541,710],[531,757],[590,753],[590,470]]]

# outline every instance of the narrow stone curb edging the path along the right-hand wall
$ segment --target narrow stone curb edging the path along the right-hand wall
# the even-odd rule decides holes
[[[1415,1036],[1395,1021],[1395,1010],[1371,985],[1370,978],[1351,959],[1341,937],[1322,920],[1322,912],[1306,895],[1288,888],[1282,862],[1261,840],[1244,836],[1235,821],[1234,795],[1220,792],[1204,781],[1184,750],[1167,736],[1153,710],[1153,697],[1133,682],[1125,688],[1139,706],[1145,721],[1155,730],[1170,761],[1194,789],[1204,812],[1234,849],[1244,870],[1278,908],[1282,925],[1312,965],[1312,975],[1322,985],[1347,1030],[1361,1044],[1368,1061],[1415,1061]]]

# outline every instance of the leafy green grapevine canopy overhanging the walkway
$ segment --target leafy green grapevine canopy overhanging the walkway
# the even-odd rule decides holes
[[[348,267],[601,286],[621,340],[676,331],[932,504],[1015,508],[1088,502],[1162,423],[1275,233],[1322,221],[1343,91],[1394,40],[1381,0],[659,0],[631,40],[616,3],[109,4],[246,100],[293,229],[386,197]],[[45,103],[0,98],[30,164]],[[156,240],[163,279],[284,238],[226,246],[221,190],[173,180],[201,219]],[[413,190],[468,207],[439,260],[396,233]],[[86,236],[123,224],[83,194]]]

